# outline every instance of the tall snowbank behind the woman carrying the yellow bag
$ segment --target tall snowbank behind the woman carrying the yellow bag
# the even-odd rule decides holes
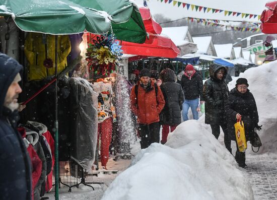
[[[259,153],[277,153],[277,61],[269,62],[250,68],[241,73],[237,78],[248,80],[248,89],[253,94],[259,114],[259,125],[262,129],[258,131],[262,146]],[[229,83],[229,90],[236,85],[236,80]],[[249,144],[249,149],[251,148]],[[251,152],[251,151],[249,151]]]

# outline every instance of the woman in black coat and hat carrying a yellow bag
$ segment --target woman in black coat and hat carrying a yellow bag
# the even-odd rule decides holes
[[[254,136],[254,128],[258,130],[259,116],[255,99],[248,88],[247,79],[239,78],[236,87],[231,90],[226,105],[226,113],[228,116],[228,135],[231,140],[236,141],[234,124],[237,119],[244,123],[245,136],[247,141],[251,141]],[[237,146],[236,161],[240,167],[247,168],[245,164],[245,152],[240,152]]]

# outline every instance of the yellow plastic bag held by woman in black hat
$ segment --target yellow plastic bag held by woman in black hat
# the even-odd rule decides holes
[[[246,143],[243,121],[238,120],[237,123],[235,123],[235,133],[236,133],[236,141],[239,147],[239,151],[245,152],[245,150],[247,149],[247,143]]]

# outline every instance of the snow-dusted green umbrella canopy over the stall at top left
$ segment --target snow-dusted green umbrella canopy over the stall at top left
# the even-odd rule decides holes
[[[0,16],[12,17],[17,26],[26,32],[64,35],[87,30],[105,34],[111,31],[112,26],[119,40],[136,43],[145,41],[145,27],[136,6],[127,0],[103,0],[106,4],[99,2],[0,0]]]

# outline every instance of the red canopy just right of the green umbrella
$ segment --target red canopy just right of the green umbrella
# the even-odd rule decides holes
[[[149,33],[149,39],[144,44],[122,41],[122,50],[125,54],[135,54],[140,56],[157,56],[157,57],[177,57],[180,50],[173,41],[165,36],[159,35],[162,27],[155,22],[146,7],[140,8],[146,31]]]

